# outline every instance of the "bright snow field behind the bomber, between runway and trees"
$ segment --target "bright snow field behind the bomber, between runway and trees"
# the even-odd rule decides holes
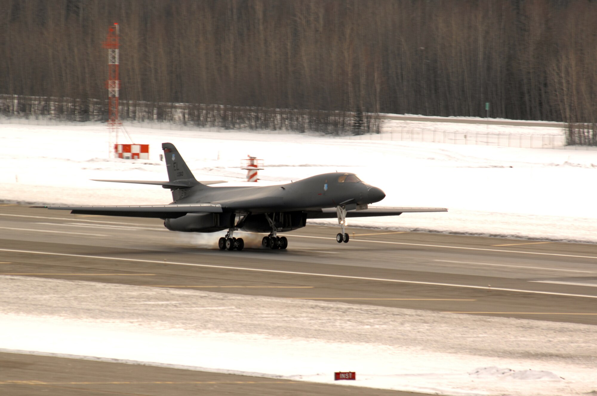
[[[0,125],[0,199],[72,205],[171,202],[163,188],[90,181],[165,180],[159,154],[161,143],[170,141],[198,180],[243,182],[241,159],[251,154],[264,159],[262,184],[355,172],[386,192],[377,205],[450,210],[353,219],[349,225],[597,242],[597,206],[590,198],[596,191],[597,151],[127,129],[136,143],[150,144],[149,160],[107,159],[105,125]]]

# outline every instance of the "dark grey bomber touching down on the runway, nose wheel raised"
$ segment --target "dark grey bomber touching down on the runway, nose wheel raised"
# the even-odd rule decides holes
[[[405,212],[447,212],[444,208],[369,208],[386,194],[352,173],[328,173],[288,184],[256,187],[210,187],[223,181],[197,181],[174,144],[163,143],[168,181],[97,180],[153,184],[170,188],[174,202],[139,206],[42,206],[69,210],[72,214],[153,217],[164,220],[171,231],[211,233],[228,230],[219,240],[221,250],[242,250],[242,238],[234,231],[269,233],[262,239],[270,249],[286,249],[288,240],[279,237],[304,227],[307,219],[338,218],[338,243],[349,241],[347,217],[396,216]]]

